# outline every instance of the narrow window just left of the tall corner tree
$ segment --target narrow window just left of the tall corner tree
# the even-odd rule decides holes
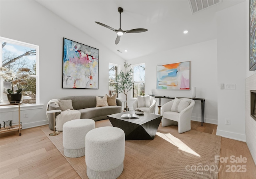
[[[115,90],[118,70],[119,70],[119,65],[109,63],[109,65],[108,65],[108,95],[116,94],[116,97],[118,97],[118,92]]]

